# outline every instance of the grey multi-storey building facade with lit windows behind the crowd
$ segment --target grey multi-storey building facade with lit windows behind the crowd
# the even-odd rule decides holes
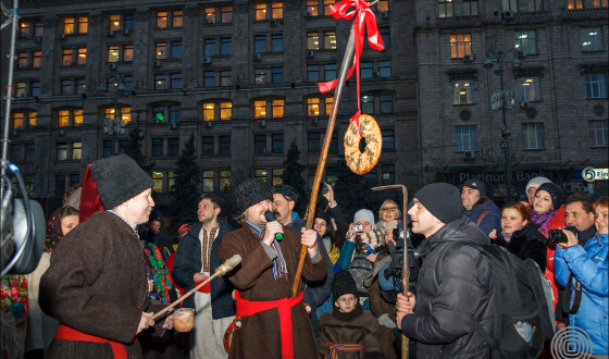
[[[330,16],[333,3],[22,0],[10,159],[33,196],[59,197],[88,163],[126,151],[137,129],[159,193],[190,136],[201,190],[279,181],[293,144],[311,184],[334,101],[318,83],[336,78],[351,24]],[[385,0],[372,10],[386,48],[364,47],[361,58],[361,109],[384,136],[371,186],[481,177],[502,197],[509,133],[514,196],[535,175],[607,193],[607,181],[581,175],[608,162],[607,0]],[[493,97],[501,83],[513,91],[507,131]],[[357,111],[355,85],[353,75],[328,182]],[[124,133],[109,131],[114,119]]]

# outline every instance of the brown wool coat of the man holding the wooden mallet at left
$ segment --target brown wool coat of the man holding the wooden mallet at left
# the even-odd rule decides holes
[[[152,311],[149,306],[141,243],[128,224],[105,211],[60,242],[40,280],[40,307],[47,314],[111,341],[130,343],[141,313]],[[141,357],[139,343],[125,348],[129,358]],[[49,357],[109,358],[112,351],[108,344],[53,339]]]

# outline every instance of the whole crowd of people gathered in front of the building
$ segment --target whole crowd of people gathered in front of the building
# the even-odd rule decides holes
[[[496,273],[475,246],[451,246],[474,243],[532,260],[551,287],[554,326],[585,331],[592,355],[608,358],[607,197],[566,197],[559,185],[536,177],[524,198],[499,208],[482,181],[469,180],[461,188],[423,186],[405,203],[407,213],[387,199],[376,216],[363,208],[347,218],[337,197],[348,194],[335,196],[323,184],[308,230],[295,211],[306,201],[298,190],[252,178],[233,190],[235,221],[221,196],[203,194],[192,203],[198,221],[172,240],[152,212],[152,187],[126,156],[87,169],[82,187],[50,216],[36,271],[23,283],[3,278],[3,286],[27,286],[25,306],[8,307],[21,308],[11,310],[22,314],[14,321],[24,334],[3,335],[3,346],[14,350],[3,347],[4,354],[398,358],[406,335],[411,358],[489,358],[498,348],[481,333],[499,335]],[[171,314],[151,319],[234,255],[241,258],[234,270],[179,305],[195,309],[190,332],[174,331]],[[12,288],[1,295],[24,299]],[[549,348],[539,356],[550,358]]]

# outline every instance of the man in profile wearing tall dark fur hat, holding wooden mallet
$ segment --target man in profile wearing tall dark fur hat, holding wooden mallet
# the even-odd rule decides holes
[[[84,190],[97,189],[107,210],[59,243],[40,281],[40,307],[61,323],[48,357],[140,358],[137,334],[154,322],[135,227],[148,222],[154,184],[126,154],[95,161],[89,170],[95,184]],[[162,326],[173,327],[171,317]]]

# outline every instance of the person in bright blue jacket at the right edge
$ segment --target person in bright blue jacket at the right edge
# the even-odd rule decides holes
[[[595,358],[607,358],[608,325],[608,233],[609,197],[594,202],[596,234],[584,245],[572,231],[562,230],[563,238],[557,244],[556,280],[566,287],[563,310],[570,325],[584,330],[592,341]]]

